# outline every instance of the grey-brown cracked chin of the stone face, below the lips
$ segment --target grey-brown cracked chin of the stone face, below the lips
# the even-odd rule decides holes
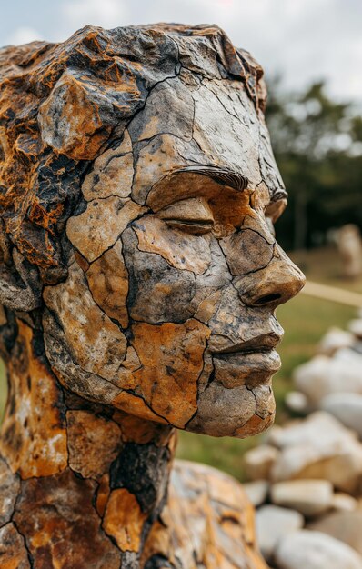
[[[212,382],[199,396],[198,410],[186,430],[209,436],[246,438],[262,433],[273,423],[276,402],[271,378],[266,384],[226,389]]]

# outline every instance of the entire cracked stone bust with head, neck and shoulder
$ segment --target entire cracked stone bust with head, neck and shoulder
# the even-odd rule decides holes
[[[274,312],[303,285],[260,66],[206,25],[86,27],[0,66],[1,566],[265,567],[236,482],[169,483],[175,427],[272,423]]]

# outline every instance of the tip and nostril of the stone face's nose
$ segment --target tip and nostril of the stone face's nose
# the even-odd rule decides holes
[[[287,303],[305,283],[305,275],[278,245],[266,267],[248,275],[236,276],[234,280],[244,304],[271,308]]]

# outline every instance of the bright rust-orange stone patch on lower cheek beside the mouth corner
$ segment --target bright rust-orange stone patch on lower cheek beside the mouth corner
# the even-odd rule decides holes
[[[185,426],[197,409],[197,379],[210,330],[190,319],[185,324],[136,323],[133,333],[142,364],[134,373],[139,393],[157,414]]]

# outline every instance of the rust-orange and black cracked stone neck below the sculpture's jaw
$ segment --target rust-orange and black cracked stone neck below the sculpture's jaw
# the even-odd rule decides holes
[[[6,359],[0,525],[15,524],[39,567],[80,567],[86,558],[99,569],[105,560],[110,569],[138,567],[166,502],[173,430],[66,392],[30,324],[17,322]]]

